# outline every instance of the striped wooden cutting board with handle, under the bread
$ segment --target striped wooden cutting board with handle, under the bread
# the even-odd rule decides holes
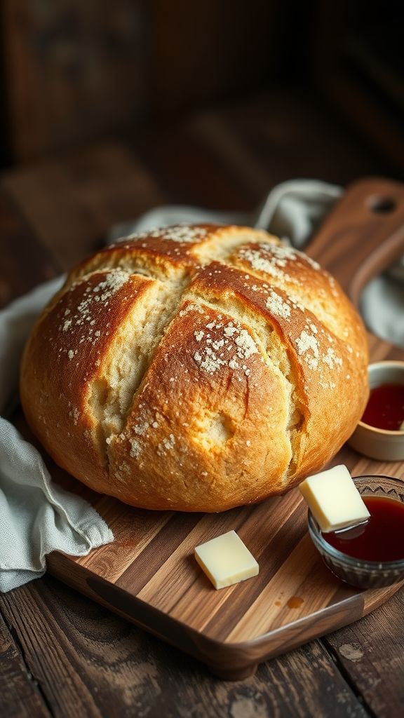
[[[404,251],[404,186],[362,180],[344,195],[307,252],[357,301],[362,286]],[[372,360],[403,358],[369,335]],[[353,475],[404,479],[404,465],[376,462],[344,446],[332,464]],[[400,585],[360,591],[323,565],[306,528],[306,505],[292,490],[221,514],[154,513],[91,492],[50,462],[66,488],[95,506],[113,544],[75,558],[48,557],[49,571],[79,591],[210,666],[242,679],[257,663],[352,623]],[[193,559],[194,546],[234,528],[260,563],[260,574],[216,591]]]

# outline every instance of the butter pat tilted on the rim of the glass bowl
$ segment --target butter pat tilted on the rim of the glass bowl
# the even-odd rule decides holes
[[[308,476],[299,489],[321,531],[337,531],[366,521],[370,514],[344,465]]]

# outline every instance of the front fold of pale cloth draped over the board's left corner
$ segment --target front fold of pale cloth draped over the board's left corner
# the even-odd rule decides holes
[[[40,453],[0,417],[0,590],[45,571],[50,551],[85,556],[114,538],[82,498],[58,487]]]

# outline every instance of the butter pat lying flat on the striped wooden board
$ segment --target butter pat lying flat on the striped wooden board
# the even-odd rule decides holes
[[[257,576],[260,570],[236,531],[228,531],[206,541],[206,544],[196,546],[195,558],[215,588],[245,581]]]

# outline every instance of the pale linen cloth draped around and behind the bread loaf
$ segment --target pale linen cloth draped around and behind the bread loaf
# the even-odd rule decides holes
[[[160,207],[134,222],[117,225],[108,241],[163,225],[211,221],[265,228],[302,247],[342,192],[340,187],[316,180],[293,180],[275,187],[251,214]],[[404,264],[401,265],[404,274],[403,268]],[[396,266],[395,271],[400,271],[400,266]],[[0,312],[0,414],[4,414],[17,392],[19,358],[35,317],[62,281],[63,278],[58,278],[44,284]],[[380,311],[385,289],[380,288],[379,280],[377,282],[375,287],[367,288],[367,312],[372,320],[377,317],[383,331],[382,318],[388,313],[388,307],[383,302]],[[396,327],[397,317],[401,317],[402,342],[403,295],[401,288],[400,307],[393,306],[392,319],[388,322],[389,327]],[[393,336],[397,336],[397,332]],[[386,337],[392,340],[390,330]],[[22,439],[9,421],[0,418],[0,591],[42,576],[46,554],[52,550],[83,556],[113,538],[96,511],[83,499],[55,485],[39,452]]]

